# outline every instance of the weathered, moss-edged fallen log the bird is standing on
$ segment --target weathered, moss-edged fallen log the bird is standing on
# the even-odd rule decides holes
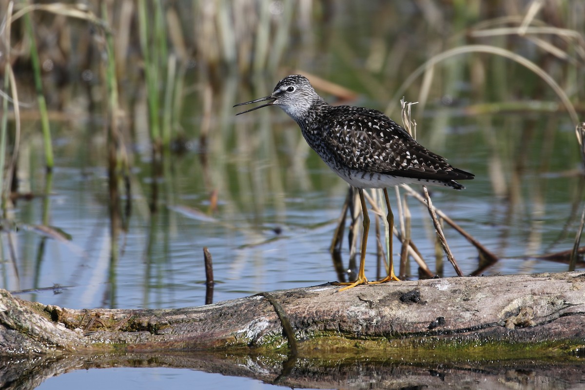
[[[437,353],[447,345],[488,353],[492,341],[508,347],[549,341],[567,353],[585,339],[584,286],[583,272],[444,278],[344,292],[335,286],[293,289],[165,310],[61,309],[0,291],[0,351],[266,352],[287,344],[288,322],[300,356],[360,351],[387,358],[404,356],[406,348]],[[501,350],[496,353],[501,357]]]

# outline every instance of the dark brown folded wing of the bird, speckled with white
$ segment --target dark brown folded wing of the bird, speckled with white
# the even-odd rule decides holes
[[[351,169],[431,180],[472,179],[445,158],[417,143],[380,111],[353,106],[331,107],[322,118],[324,137],[339,163]]]

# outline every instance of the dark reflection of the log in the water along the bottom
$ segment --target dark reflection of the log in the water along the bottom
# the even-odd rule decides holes
[[[0,388],[35,389],[44,380],[72,370],[110,367],[189,368],[253,378],[290,388],[314,389],[577,389],[585,379],[583,364],[578,362],[535,364],[534,360],[462,360],[459,363],[405,363],[402,359],[373,360],[356,356],[322,360],[297,358],[283,362],[281,357],[236,357],[191,351],[45,356],[23,359],[18,363],[0,358]],[[104,378],[108,378],[107,372],[104,372]]]

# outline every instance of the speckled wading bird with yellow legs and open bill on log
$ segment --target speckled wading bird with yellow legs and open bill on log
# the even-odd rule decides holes
[[[457,180],[470,180],[474,175],[453,167],[446,159],[419,144],[394,120],[375,109],[339,105],[333,106],[317,94],[307,77],[288,75],[278,82],[274,91],[263,98],[234,105],[267,102],[241,115],[267,106],[278,106],[298,126],[311,149],[349,185],[357,188],[363,212],[363,232],[360,267],[353,282],[339,291],[363,284],[399,281],[394,273],[392,234],[394,215],[390,207],[387,187],[401,184],[443,185],[463,189]],[[365,274],[367,235],[370,227],[365,188],[381,188],[388,210],[388,275],[368,281]]]

